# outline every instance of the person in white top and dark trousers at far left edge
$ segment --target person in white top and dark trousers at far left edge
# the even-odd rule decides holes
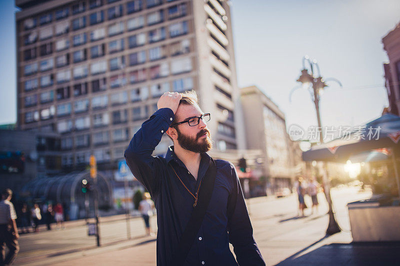
[[[16,214],[10,202],[12,191],[5,189],[1,193],[0,202],[0,265],[11,265],[19,251],[18,229],[16,228]],[[8,254],[5,256],[5,246]]]

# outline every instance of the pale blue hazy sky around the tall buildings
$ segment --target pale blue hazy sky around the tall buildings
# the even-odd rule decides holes
[[[0,124],[16,122],[14,1],[0,8]],[[256,85],[284,112],[286,128],[316,126],[314,105],[298,85],[302,58],[316,59],[328,82],[323,126],[360,125],[388,105],[381,38],[400,21],[398,0],[231,0],[238,86]]]

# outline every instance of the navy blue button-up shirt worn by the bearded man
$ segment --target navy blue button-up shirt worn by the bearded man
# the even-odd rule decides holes
[[[134,134],[124,154],[130,171],[147,189],[155,203],[158,266],[170,265],[193,211],[194,198],[176,174],[195,195],[210,160],[208,154],[201,154],[195,180],[176,157],[173,147],[168,148],[165,158],[151,156],[173,118],[174,114],[169,108],[156,111]],[[250,219],[234,166],[223,160],[215,160],[215,166],[216,177],[211,199],[185,265],[265,265],[252,235]],[[237,182],[236,191],[233,191],[233,182]],[[227,204],[232,193],[237,193],[237,201],[228,228]],[[229,250],[229,242],[233,245],[237,262]]]

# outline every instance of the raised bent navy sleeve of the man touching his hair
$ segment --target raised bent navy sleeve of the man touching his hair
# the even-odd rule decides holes
[[[133,135],[124,157],[133,176],[146,188],[151,197],[159,191],[160,159],[151,156],[174,118],[169,108],[157,110]]]

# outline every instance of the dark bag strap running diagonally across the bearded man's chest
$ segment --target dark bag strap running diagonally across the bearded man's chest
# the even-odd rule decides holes
[[[178,249],[173,257],[173,265],[183,265],[186,260],[187,254],[193,245],[194,239],[200,229],[203,221],[205,211],[207,210],[208,204],[211,200],[211,194],[214,189],[216,176],[215,162],[210,158],[208,169],[204,174],[200,190],[198,191],[197,205],[194,207],[193,212],[190,215],[189,221],[187,222],[186,228],[180,238]]]

